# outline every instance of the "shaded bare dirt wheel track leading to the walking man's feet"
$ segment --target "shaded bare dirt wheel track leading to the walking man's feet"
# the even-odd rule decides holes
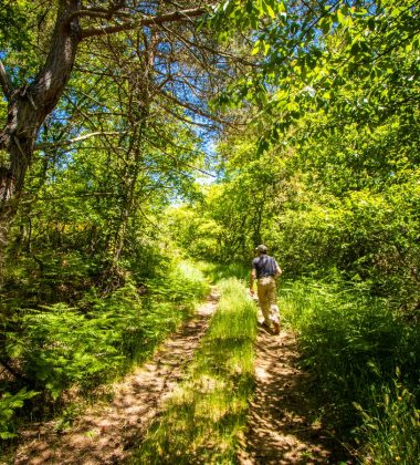
[[[317,422],[313,383],[297,368],[292,333],[273,335],[260,328],[256,391],[248,417],[241,465],[337,464],[343,451]],[[321,416],[321,415],[318,415]],[[345,462],[344,462],[345,463]]]

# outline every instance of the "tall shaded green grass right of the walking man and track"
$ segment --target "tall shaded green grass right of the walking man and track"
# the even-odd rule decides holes
[[[280,296],[337,438],[361,463],[417,464],[419,327],[355,287],[294,282]]]

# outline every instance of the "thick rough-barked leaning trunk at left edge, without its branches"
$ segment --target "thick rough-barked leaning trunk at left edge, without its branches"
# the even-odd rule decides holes
[[[50,51],[34,81],[8,95],[8,118],[0,132],[0,151],[9,165],[0,166],[0,241],[13,219],[42,123],[54,110],[70,79],[81,41],[77,17],[81,0],[60,2]]]

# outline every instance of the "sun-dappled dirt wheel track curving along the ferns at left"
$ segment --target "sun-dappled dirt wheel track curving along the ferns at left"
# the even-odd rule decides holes
[[[212,289],[207,303],[156,352],[153,360],[116,384],[114,400],[93,406],[72,430],[55,433],[54,423],[23,432],[14,464],[120,464],[141,440],[161,402],[181,380],[185,365],[204,333],[217,306]]]

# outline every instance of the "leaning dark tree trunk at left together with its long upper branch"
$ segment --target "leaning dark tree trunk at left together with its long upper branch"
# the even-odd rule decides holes
[[[9,224],[18,210],[40,127],[64,92],[81,41],[91,37],[138,29],[140,25],[150,28],[166,22],[185,21],[206,13],[206,9],[201,7],[162,13],[156,18],[139,13],[133,17],[140,19],[137,22],[127,20],[115,23],[114,21],[107,25],[82,30],[80,18],[99,18],[109,21],[116,12],[126,7],[126,2],[102,1],[97,2],[98,6],[95,8],[86,6],[91,2],[82,0],[57,0],[56,3],[59,8],[50,40],[50,51],[45,64],[35,79],[19,89],[12,89],[0,61],[0,84],[8,100],[7,123],[0,131],[0,153],[8,154],[8,162],[3,163],[3,166],[0,165],[0,248],[2,242],[6,244]]]

